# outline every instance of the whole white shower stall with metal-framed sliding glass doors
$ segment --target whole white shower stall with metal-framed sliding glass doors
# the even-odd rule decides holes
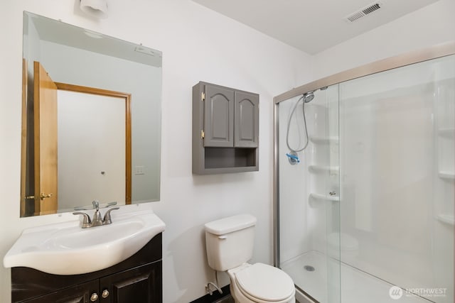
[[[274,263],[299,302],[454,302],[454,54],[274,98]]]

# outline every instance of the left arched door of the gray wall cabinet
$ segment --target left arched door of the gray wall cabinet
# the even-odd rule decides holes
[[[205,85],[204,146],[233,147],[234,92]]]

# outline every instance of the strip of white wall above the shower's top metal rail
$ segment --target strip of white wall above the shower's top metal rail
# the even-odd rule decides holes
[[[324,50],[314,57],[314,78],[319,79],[386,57],[454,41],[454,13],[454,0],[439,0]]]

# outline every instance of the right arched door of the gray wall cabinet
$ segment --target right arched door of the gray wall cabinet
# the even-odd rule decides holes
[[[259,97],[235,92],[234,146],[257,148],[259,145]]]

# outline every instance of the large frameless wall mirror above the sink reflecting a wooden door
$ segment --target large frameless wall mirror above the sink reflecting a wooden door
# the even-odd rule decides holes
[[[21,216],[159,201],[161,57],[24,12]]]

